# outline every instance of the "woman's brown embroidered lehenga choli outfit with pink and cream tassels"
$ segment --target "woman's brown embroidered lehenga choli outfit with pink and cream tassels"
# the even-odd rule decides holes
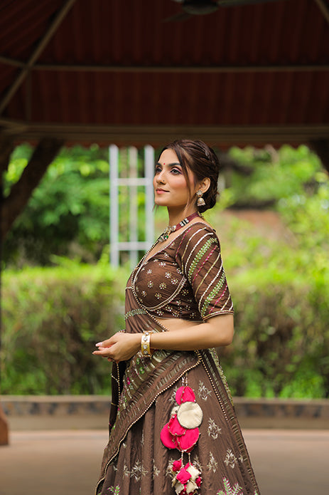
[[[203,222],[181,230],[131,273],[126,332],[166,331],[158,318],[233,313],[215,231]],[[215,350],[156,350],[113,364],[96,493],[260,495]]]

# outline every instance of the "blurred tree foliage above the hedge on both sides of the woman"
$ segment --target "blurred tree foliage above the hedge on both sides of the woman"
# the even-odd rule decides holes
[[[4,176],[5,195],[19,179],[31,152],[28,145],[21,145],[14,151]],[[120,168],[127,174],[124,154],[122,156]],[[249,172],[242,174],[236,167],[236,170],[222,173],[225,189],[215,216],[227,207],[271,205],[293,231],[311,229],[320,245],[325,242],[328,175],[308,147],[300,146],[295,150],[283,146],[278,151],[271,147],[264,150],[232,148],[230,159]],[[139,168],[142,166],[139,155]],[[139,230],[143,236],[144,194],[141,190],[137,194],[141,211]],[[122,189],[119,196],[120,240],[126,240],[129,229],[128,197],[129,191]],[[164,217],[160,212],[160,218],[164,220]],[[76,146],[63,149],[48,167],[4,243],[4,262],[6,266],[47,265],[51,264],[53,254],[95,262],[108,243],[108,151],[97,145],[87,149]]]

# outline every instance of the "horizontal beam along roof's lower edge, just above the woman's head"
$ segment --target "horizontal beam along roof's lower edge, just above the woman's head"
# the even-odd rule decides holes
[[[180,137],[226,145],[307,143],[328,138],[329,124],[322,125],[81,125],[63,123],[14,123],[0,119],[4,134],[19,140],[56,136],[70,142],[163,143]]]

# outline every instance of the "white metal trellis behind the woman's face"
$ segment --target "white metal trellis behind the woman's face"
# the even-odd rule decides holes
[[[109,234],[111,255],[110,262],[119,266],[120,251],[129,251],[130,264],[133,268],[138,261],[138,251],[146,251],[154,239],[153,219],[153,174],[154,150],[147,145],[144,147],[144,177],[138,177],[137,158],[135,147],[129,147],[129,177],[119,176],[119,148],[117,145],[109,147]],[[129,187],[129,239],[119,241],[119,187]],[[137,187],[145,188],[145,240],[138,239],[138,196]]]

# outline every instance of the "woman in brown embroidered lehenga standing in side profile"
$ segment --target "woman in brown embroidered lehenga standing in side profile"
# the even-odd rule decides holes
[[[126,329],[94,352],[114,363],[97,494],[259,495],[213,349],[234,333],[220,243],[200,215],[218,171],[202,141],[175,141],[156,164],[169,226],[129,278]]]

